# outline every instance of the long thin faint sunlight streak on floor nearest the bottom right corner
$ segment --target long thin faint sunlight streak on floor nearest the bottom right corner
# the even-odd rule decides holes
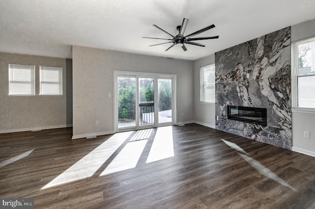
[[[275,173],[270,171],[268,168],[266,168],[264,165],[262,165],[260,162],[257,160],[253,159],[252,157],[249,157],[245,154],[238,153],[243,159],[245,159],[247,162],[249,162],[252,167],[254,167],[261,175],[264,175],[270,179],[273,179],[274,181],[277,181],[278,183],[281,183],[282,185],[289,187],[293,191],[296,191],[291,185],[289,185],[287,182],[285,182],[283,179],[278,177]]]

